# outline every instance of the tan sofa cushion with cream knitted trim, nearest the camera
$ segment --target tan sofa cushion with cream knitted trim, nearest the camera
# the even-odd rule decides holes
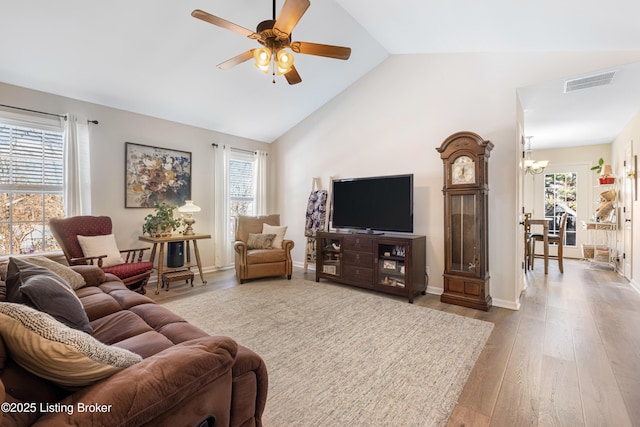
[[[0,303],[0,334],[20,366],[64,387],[91,385],[142,360],[21,304]]]

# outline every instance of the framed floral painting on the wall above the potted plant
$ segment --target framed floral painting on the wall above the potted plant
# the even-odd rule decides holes
[[[190,199],[190,152],[125,143],[126,208],[181,206]]]

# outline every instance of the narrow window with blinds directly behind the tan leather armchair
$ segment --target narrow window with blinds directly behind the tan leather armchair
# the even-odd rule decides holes
[[[239,215],[255,215],[254,157],[232,151],[229,159],[229,219],[231,241]]]

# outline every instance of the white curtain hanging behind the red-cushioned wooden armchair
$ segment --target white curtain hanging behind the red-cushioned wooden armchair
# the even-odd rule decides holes
[[[86,117],[67,115],[64,123],[65,216],[91,214],[89,125]]]

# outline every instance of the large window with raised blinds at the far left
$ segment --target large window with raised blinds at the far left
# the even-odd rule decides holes
[[[0,253],[59,250],[49,219],[64,216],[61,127],[0,117]]]

